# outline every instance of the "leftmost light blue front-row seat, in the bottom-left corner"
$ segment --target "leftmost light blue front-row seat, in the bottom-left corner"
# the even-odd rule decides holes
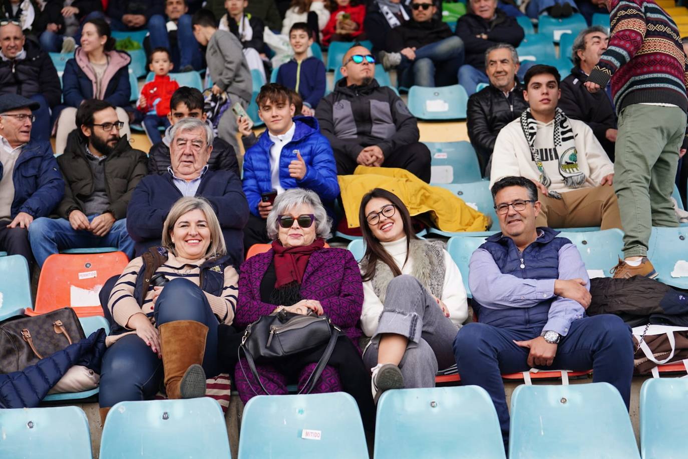
[[[86,414],[76,406],[0,410],[0,457],[91,459]]]

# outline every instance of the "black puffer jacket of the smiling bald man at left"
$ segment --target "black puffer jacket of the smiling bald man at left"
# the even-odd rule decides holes
[[[43,94],[47,104],[55,107],[61,102],[62,88],[50,56],[31,40],[25,41],[24,50],[25,59],[0,60],[0,96]]]

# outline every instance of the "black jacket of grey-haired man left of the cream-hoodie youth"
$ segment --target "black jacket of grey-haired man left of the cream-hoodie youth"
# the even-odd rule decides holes
[[[469,98],[466,110],[469,138],[483,175],[499,131],[528,108],[528,102],[523,98],[523,89],[523,85],[517,81],[507,99],[502,91],[489,85]]]

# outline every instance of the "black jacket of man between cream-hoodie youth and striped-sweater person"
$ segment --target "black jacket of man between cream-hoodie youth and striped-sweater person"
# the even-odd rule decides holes
[[[586,80],[588,76],[585,76],[579,67],[571,69],[571,74],[561,81],[559,108],[566,116],[588,124],[613,162],[614,142],[610,142],[605,133],[607,129],[616,129],[614,105],[605,91],[592,94],[585,89],[583,83]]]

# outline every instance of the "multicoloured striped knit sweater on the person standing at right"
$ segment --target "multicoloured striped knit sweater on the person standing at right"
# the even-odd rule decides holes
[[[686,56],[676,23],[653,0],[611,0],[612,35],[588,81],[612,80],[616,112],[638,103],[688,110]]]

